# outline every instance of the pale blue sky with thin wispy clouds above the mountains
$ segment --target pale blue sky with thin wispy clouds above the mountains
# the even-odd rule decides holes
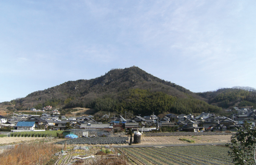
[[[255,0],[1,0],[0,102],[137,66],[192,92],[256,88]]]

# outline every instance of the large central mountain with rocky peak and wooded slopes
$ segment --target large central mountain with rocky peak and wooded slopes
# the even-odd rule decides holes
[[[129,111],[145,115],[165,112],[221,113],[222,104],[216,101],[217,96],[218,92],[193,93],[132,66],[111,69],[91,80],[68,81],[1,104],[9,110],[40,109],[51,105],[60,109],[86,107],[97,111]]]

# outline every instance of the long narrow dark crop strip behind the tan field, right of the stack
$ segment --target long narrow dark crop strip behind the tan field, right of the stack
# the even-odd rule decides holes
[[[198,136],[198,135],[233,135],[225,132],[144,132],[143,136]]]

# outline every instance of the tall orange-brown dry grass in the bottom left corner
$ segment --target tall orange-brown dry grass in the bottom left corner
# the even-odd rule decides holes
[[[23,143],[0,154],[1,165],[35,165],[48,162],[60,149],[53,143]]]

